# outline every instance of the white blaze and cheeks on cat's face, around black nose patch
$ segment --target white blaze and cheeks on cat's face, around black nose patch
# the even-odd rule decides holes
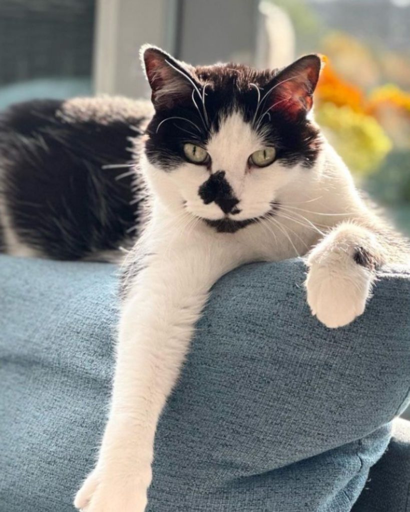
[[[204,146],[210,165],[187,161],[170,173],[158,172],[153,167],[148,179],[155,183],[156,193],[168,205],[179,208],[183,204],[196,217],[218,220],[226,214],[214,201],[204,203],[199,188],[211,173],[223,171],[233,196],[239,200],[236,205],[239,213],[230,213],[228,217],[237,221],[261,217],[271,210],[273,201],[297,201],[309,188],[314,174],[314,169],[307,171],[300,165],[286,167],[280,161],[267,167],[249,166],[249,157],[266,146],[251,123],[245,122],[240,112],[234,112],[221,120],[219,130],[211,133]]]

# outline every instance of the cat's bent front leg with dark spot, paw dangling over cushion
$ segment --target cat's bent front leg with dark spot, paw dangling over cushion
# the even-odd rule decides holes
[[[372,231],[353,222],[334,228],[308,255],[305,286],[312,314],[330,328],[353,322],[364,312],[381,263]]]

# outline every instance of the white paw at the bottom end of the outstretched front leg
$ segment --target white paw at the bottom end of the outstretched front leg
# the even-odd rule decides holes
[[[83,512],[144,512],[151,470],[138,476],[94,470],[79,489],[74,506]]]

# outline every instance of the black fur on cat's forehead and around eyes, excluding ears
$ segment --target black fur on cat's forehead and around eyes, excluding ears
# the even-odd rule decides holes
[[[197,67],[192,75],[206,105],[209,123],[204,122],[201,112],[201,97],[194,93],[196,109],[192,99],[192,89],[178,101],[161,105],[148,126],[149,140],[146,144],[148,159],[164,170],[172,170],[185,161],[183,145],[198,142],[206,145],[211,131],[217,132],[221,119],[239,110],[245,121],[252,122],[260,96],[278,82],[279,70],[257,71],[247,66],[229,63],[226,66]],[[269,102],[268,102],[269,100]],[[259,105],[258,114],[269,108],[269,104],[279,101],[275,90]],[[306,118],[306,112],[291,112],[285,106],[273,108],[258,124],[257,131],[263,134],[267,145],[274,146],[277,160],[285,166],[301,163],[306,168],[315,164],[319,150],[319,130]],[[215,170],[215,169],[214,169]]]

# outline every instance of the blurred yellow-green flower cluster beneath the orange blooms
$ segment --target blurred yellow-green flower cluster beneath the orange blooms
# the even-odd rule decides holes
[[[351,105],[323,103],[316,120],[353,172],[365,175],[381,164],[392,142],[372,116],[355,111]]]

